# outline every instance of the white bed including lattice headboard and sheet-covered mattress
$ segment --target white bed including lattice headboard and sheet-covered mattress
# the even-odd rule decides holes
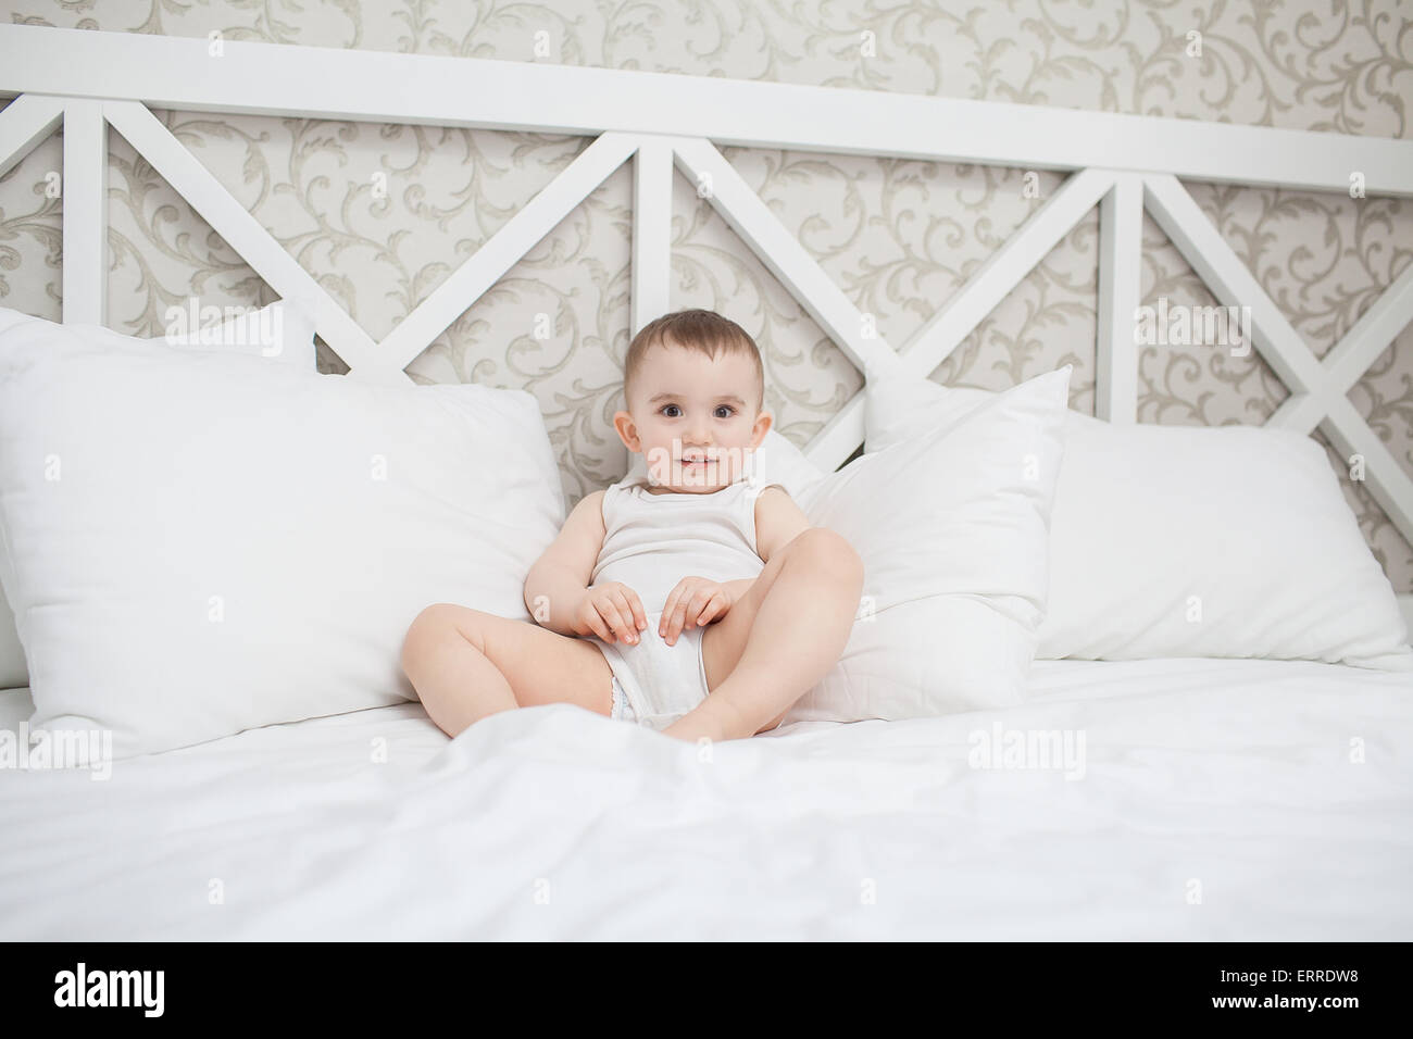
[[[1320,425],[1341,451],[1366,458],[1371,493],[1413,534],[1413,481],[1342,396],[1407,324],[1413,267],[1321,365],[1177,181],[1328,191],[1356,168],[1371,194],[1413,195],[1409,143],[1338,137],[1331,147],[1334,134],[1195,120],[244,42],[227,42],[211,69],[203,45],[0,25],[0,52],[14,57],[0,92],[25,95],[0,115],[0,154],[65,123],[65,322],[105,315],[93,218],[109,126],[281,295],[311,301],[319,336],[352,373],[390,385],[406,382],[404,365],[469,298],[632,158],[634,328],[667,308],[661,188],[675,164],[698,181],[711,175],[733,229],[870,377],[899,360],[917,377],[934,370],[1101,205],[1095,410],[1132,424],[1136,355],[1118,329],[1137,303],[1137,219],[1147,208],[1214,294],[1253,305],[1255,345],[1293,389],[1272,423],[1300,434]],[[839,119],[831,106],[841,99],[861,117]],[[374,344],[146,105],[601,136]],[[712,141],[1074,175],[894,349]],[[855,399],[811,442],[810,459],[832,471],[863,433]],[[0,937],[1413,936],[1407,671],[1308,659],[1037,659],[1022,704],[906,721],[801,720],[705,756],[569,705],[493,715],[448,739],[397,690],[384,700],[134,756],[107,776],[0,770]],[[21,731],[32,712],[27,688],[0,693],[0,729]],[[1015,768],[1000,753],[1012,734],[1039,741]],[[996,759],[979,766],[981,749]]]

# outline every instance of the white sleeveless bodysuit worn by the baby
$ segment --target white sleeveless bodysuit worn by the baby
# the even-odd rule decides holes
[[[603,547],[589,585],[622,581],[643,604],[637,645],[589,635],[613,671],[615,717],[664,729],[706,698],[702,628],[684,628],[668,646],[657,633],[663,606],[684,577],[755,578],[756,499],[770,483],[745,476],[711,493],[650,493],[642,478],[603,493]],[[629,711],[620,711],[626,698]]]

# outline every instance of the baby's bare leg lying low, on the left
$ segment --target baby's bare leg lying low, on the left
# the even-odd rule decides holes
[[[449,736],[514,707],[568,703],[603,715],[613,707],[613,671],[592,642],[449,602],[413,621],[403,671]]]

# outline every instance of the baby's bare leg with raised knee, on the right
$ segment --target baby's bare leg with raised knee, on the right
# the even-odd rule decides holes
[[[702,630],[711,695],[731,688],[738,703],[769,704],[755,732],[773,729],[844,653],[862,591],[853,546],[827,527],[801,532],[726,616]],[[674,734],[685,721],[673,724]]]

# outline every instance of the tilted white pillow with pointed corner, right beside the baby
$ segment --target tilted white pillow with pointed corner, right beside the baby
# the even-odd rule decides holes
[[[1065,365],[961,421],[856,458],[807,493],[810,522],[863,560],[863,601],[842,657],[787,724],[1022,703],[1070,373]],[[868,409],[892,410],[899,389],[896,377],[868,383]]]

